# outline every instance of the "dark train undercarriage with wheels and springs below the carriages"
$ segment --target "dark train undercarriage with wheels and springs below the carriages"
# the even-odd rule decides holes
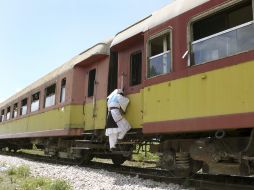
[[[175,176],[189,176],[196,172],[249,176],[254,173],[254,130],[218,130],[200,134],[144,136],[140,130],[129,132],[110,151],[104,131],[86,132],[80,138],[35,138],[1,141],[0,147],[16,152],[44,150],[45,155],[73,159],[87,164],[94,157],[112,159],[121,165],[132,158],[137,147],[149,146],[157,154],[157,165]],[[145,148],[146,150],[146,148]]]

